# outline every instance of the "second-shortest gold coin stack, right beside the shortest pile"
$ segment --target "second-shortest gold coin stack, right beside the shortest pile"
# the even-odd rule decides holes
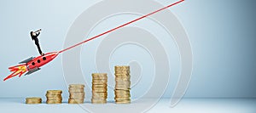
[[[61,104],[62,97],[61,97],[61,90],[48,90],[46,93],[46,104]]]

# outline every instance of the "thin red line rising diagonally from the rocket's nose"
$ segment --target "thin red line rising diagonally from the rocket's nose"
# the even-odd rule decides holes
[[[181,1],[178,1],[177,3],[182,3],[183,1],[184,1],[184,0],[181,0]],[[142,17],[137,18],[136,20],[131,20],[130,22],[125,23],[124,25],[119,25],[119,26],[113,28],[112,30],[105,31],[105,32],[103,32],[102,34],[99,34],[99,35],[97,35],[97,36],[95,36],[95,37],[90,37],[89,39],[85,40],[84,42],[89,42],[89,41],[91,41],[91,40],[93,40],[93,39],[95,39],[95,38],[97,38],[97,37],[102,37],[103,35],[106,35],[106,34],[108,34],[109,32],[118,30],[119,28],[122,28],[122,27],[124,27],[125,25],[130,25],[131,23],[134,23],[134,22],[136,22],[137,20],[142,20],[143,18],[146,18],[146,17],[148,17],[149,15],[156,14],[156,13],[158,13],[158,12],[160,12],[160,11],[166,9],[166,8],[170,8],[170,7],[174,6],[174,5],[176,5],[177,3],[172,3],[171,5],[168,5],[168,6],[164,7],[164,8],[160,8],[160,9],[158,9],[158,10],[156,10],[156,11],[150,13],[150,14],[143,15]],[[79,43],[77,43],[77,44],[75,44],[75,45],[73,45],[73,46],[71,46],[71,47],[69,47],[69,48],[65,48],[65,49],[61,50],[59,53],[65,52],[65,51],[67,51],[68,49],[71,49],[71,48],[75,48],[75,47],[77,47],[77,46],[83,44],[84,42],[79,42]]]

